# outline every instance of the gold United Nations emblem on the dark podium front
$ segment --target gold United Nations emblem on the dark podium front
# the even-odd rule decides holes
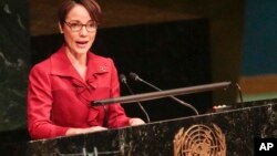
[[[174,156],[226,156],[225,135],[213,124],[182,127],[173,141]]]

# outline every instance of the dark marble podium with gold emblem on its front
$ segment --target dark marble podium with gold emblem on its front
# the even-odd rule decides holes
[[[255,137],[277,137],[277,100],[70,137],[1,143],[4,156],[252,156]],[[161,112],[162,113],[162,112]],[[1,154],[1,155],[2,155]]]

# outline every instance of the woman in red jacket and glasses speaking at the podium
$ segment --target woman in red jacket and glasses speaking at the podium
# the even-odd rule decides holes
[[[90,52],[101,9],[94,0],[66,0],[59,10],[64,45],[30,71],[28,129],[33,139],[144,124],[120,104],[91,106],[120,96],[113,61]]]

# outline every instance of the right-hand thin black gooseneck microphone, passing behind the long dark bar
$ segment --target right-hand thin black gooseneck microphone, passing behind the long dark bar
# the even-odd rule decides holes
[[[137,74],[135,74],[135,73],[133,73],[133,72],[131,72],[129,75],[130,75],[130,77],[131,77],[132,80],[134,80],[134,81],[140,81],[140,82],[142,82],[142,83],[144,83],[144,84],[146,84],[146,85],[148,85],[148,86],[151,86],[151,87],[153,87],[153,89],[155,89],[156,91],[162,91],[161,89],[156,87],[155,85],[153,85],[153,84],[151,84],[151,83],[144,81],[143,79],[141,79]],[[170,97],[171,97],[172,100],[176,101],[177,103],[179,103],[179,104],[182,104],[182,105],[184,105],[184,106],[187,106],[187,107],[192,108],[196,115],[199,114],[198,111],[197,111],[194,106],[192,106],[191,104],[185,103],[185,102],[183,102],[182,100],[179,100],[179,98],[177,98],[177,97],[175,97],[175,96],[173,96],[173,95],[171,95]]]

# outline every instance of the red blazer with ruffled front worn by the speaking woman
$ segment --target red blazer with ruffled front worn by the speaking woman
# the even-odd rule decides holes
[[[29,74],[28,129],[33,139],[63,136],[70,127],[127,126],[120,104],[91,106],[90,102],[120,96],[117,71],[111,59],[88,53],[85,81],[62,46]]]

